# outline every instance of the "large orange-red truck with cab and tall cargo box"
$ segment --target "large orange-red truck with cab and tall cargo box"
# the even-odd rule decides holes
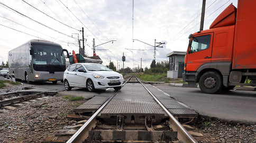
[[[209,29],[190,34],[184,81],[198,83],[204,93],[220,93],[248,79],[256,85],[255,5],[241,0],[236,9],[231,4]]]

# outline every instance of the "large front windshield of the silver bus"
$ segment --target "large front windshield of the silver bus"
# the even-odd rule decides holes
[[[34,65],[65,65],[62,48],[56,45],[33,44]]]

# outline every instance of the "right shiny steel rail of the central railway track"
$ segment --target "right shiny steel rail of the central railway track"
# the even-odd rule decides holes
[[[167,115],[170,117],[170,119],[173,121],[173,125],[175,126],[175,129],[178,131],[178,139],[182,142],[193,142],[197,143],[194,137],[192,137],[188,131],[179,123],[179,121],[170,113],[170,111],[164,107],[164,105],[157,99],[156,96],[154,96],[151,91],[135,76],[135,78],[139,81],[139,83],[148,91],[148,93],[154,98],[154,100],[157,101],[157,103],[161,106],[161,108],[167,113]]]

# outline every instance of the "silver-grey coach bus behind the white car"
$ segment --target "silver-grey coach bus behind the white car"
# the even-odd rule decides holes
[[[29,40],[29,42],[8,52],[9,74],[21,80],[63,81],[66,60],[59,44],[46,40]]]

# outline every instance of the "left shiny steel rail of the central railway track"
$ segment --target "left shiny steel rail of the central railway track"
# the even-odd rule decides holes
[[[130,77],[127,81],[131,80],[132,77]],[[124,85],[127,83],[127,81],[124,83]],[[85,131],[85,129],[87,129],[87,127],[93,122],[93,120],[95,119],[95,117],[100,113],[100,111],[102,111],[102,109],[109,103],[110,100],[112,100],[119,91],[117,91],[113,96],[109,97],[105,103],[99,107],[99,109],[85,122],[85,124],[83,126],[81,126],[76,133],[66,142],[66,143],[74,143],[74,142],[83,142],[84,139],[81,138],[83,134],[83,132]]]

